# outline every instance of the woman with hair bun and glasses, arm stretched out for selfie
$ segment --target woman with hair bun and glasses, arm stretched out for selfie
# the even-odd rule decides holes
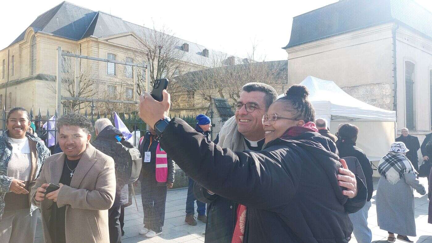
[[[356,196],[356,180],[350,172],[338,175],[344,169],[330,152],[335,145],[317,133],[307,96],[304,86],[294,85],[269,107],[262,151],[222,149],[183,120],[169,120],[166,91],[162,102],[141,96],[140,117],[193,180],[245,206],[233,242],[346,243],[353,225],[344,205]],[[342,177],[348,182],[338,182]]]

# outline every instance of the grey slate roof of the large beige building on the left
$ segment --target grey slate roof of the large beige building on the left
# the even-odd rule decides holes
[[[41,14],[29,27],[34,28],[35,32],[41,31],[51,33],[76,41],[89,36],[101,38],[127,32],[135,32],[138,36],[144,36],[148,35],[150,31],[153,31],[141,25],[124,21],[108,13],[96,12],[68,2],[62,2]],[[22,41],[24,35],[25,31],[10,45]],[[184,43],[189,44],[189,51],[184,57],[187,61],[200,65],[206,63],[206,60],[203,60],[206,57],[203,57],[202,50],[208,48],[180,38],[177,39],[179,45]],[[182,51],[181,46],[179,46],[178,49]],[[212,54],[222,53],[216,50],[210,50],[209,55]]]

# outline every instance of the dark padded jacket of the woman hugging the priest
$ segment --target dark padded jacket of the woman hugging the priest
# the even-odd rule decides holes
[[[348,242],[353,225],[336,178],[341,164],[330,152],[333,143],[316,133],[295,139],[233,152],[174,118],[160,142],[193,180],[247,206],[244,242]]]

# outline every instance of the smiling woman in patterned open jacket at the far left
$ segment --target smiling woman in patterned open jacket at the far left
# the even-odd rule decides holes
[[[30,204],[29,188],[35,183],[49,150],[27,132],[27,110],[7,114],[7,131],[0,136],[0,242],[33,242],[38,211]]]

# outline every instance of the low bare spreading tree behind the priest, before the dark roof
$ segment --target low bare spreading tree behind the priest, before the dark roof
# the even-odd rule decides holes
[[[194,105],[207,105],[212,98],[238,101],[241,87],[248,82],[263,82],[281,91],[287,79],[287,62],[254,60],[254,45],[248,58],[240,59],[214,52],[203,64],[208,69],[193,71],[178,76],[176,82],[193,96]]]

